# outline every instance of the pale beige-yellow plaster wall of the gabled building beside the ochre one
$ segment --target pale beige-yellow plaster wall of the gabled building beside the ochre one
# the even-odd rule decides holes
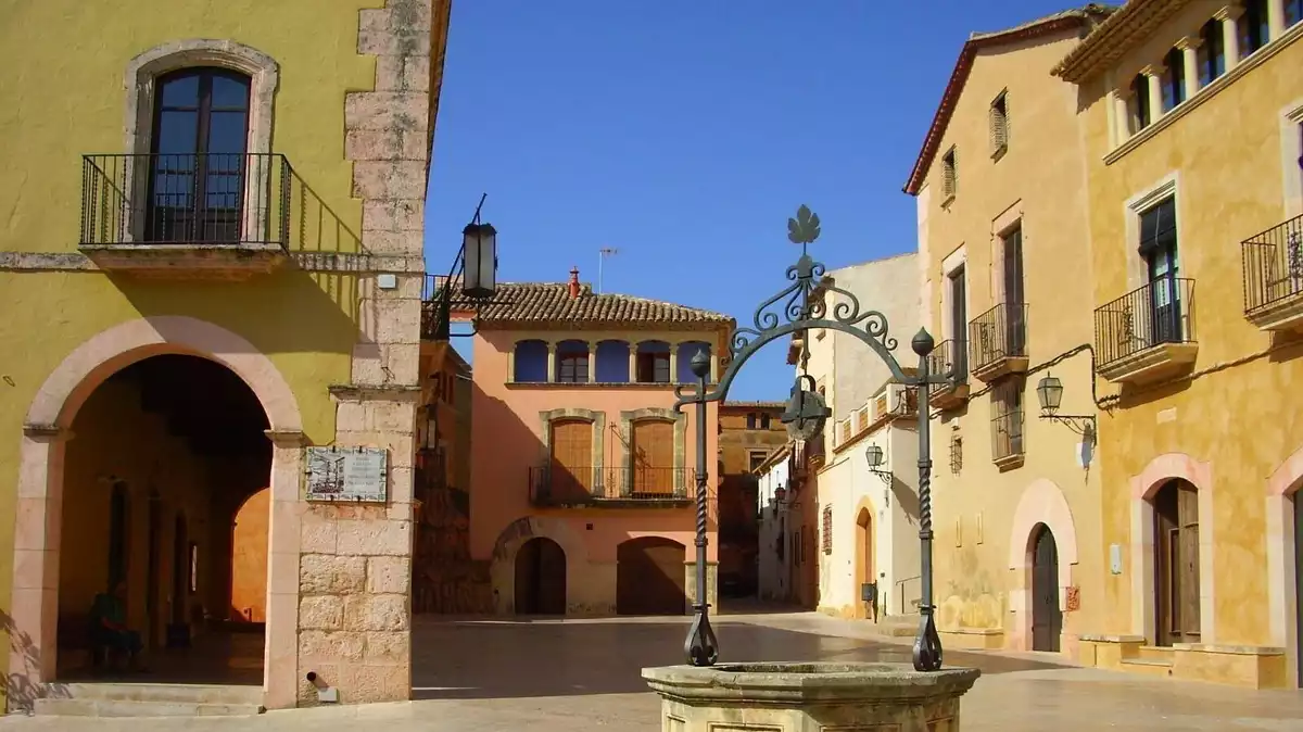
[[[933,511],[938,625],[945,629],[1003,630],[1015,637],[1022,590],[1028,577],[1010,568],[1031,526],[1015,531],[1014,514],[1036,481],[1058,486],[1071,509],[1078,564],[1071,582],[1080,587],[1079,611],[1063,616],[1063,650],[1076,634],[1093,630],[1104,612],[1100,589],[1098,478],[1078,462],[1080,436],[1063,425],[1037,419],[1036,384],[1045,365],[1091,343],[1089,242],[1085,215],[1083,145],[1076,130],[1076,95],[1050,76],[1053,65],[1078,43],[1065,30],[980,51],[955,106],[954,117],[919,194],[920,258],[928,296],[924,310],[937,343],[967,339],[967,323],[949,322],[946,275],[962,257],[967,277],[967,319],[972,322],[1003,301],[999,234],[1020,220],[1023,232],[1027,354],[1031,370],[1023,388],[1025,461],[1001,470],[993,462],[993,404],[986,384],[968,378],[972,399],[947,410],[932,426]],[[992,156],[989,109],[1006,91],[1007,152]],[[959,182],[954,201],[942,194],[942,155],[956,151]],[[962,250],[962,255],[958,254]],[[1078,350],[1049,367],[1065,387],[1062,412],[1092,414],[1091,357]],[[1009,376],[1005,376],[1006,379]],[[962,439],[960,468],[951,465],[951,439]],[[1068,537],[1052,525],[1061,563]],[[1065,593],[1061,590],[1061,595]],[[1029,619],[1025,626],[1031,626]]]

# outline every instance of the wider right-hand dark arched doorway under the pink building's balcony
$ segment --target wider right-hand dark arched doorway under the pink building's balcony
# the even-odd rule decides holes
[[[688,607],[687,547],[665,537],[638,537],[615,547],[615,612],[683,615]]]

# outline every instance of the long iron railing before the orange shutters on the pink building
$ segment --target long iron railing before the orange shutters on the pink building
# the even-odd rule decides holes
[[[692,468],[536,465],[529,469],[529,500],[534,505],[685,501],[696,488],[696,474]]]

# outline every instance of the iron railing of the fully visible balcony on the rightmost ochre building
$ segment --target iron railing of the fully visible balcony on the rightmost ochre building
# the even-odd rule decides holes
[[[1194,343],[1195,280],[1158,277],[1095,310],[1097,366],[1165,343]]]

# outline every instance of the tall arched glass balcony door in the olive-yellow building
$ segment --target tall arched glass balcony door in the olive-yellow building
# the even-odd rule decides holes
[[[240,241],[249,175],[249,77],[225,69],[181,69],[159,77],[147,241]]]

